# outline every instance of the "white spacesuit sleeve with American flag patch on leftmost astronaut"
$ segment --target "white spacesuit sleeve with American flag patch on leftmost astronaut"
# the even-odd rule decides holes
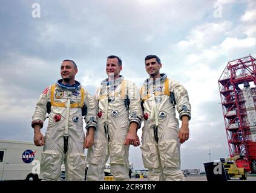
[[[34,128],[34,125],[39,124],[41,128],[44,126],[44,121],[47,118],[47,102],[50,95],[51,86],[44,89],[43,93],[39,97],[38,103],[36,103],[36,109],[32,116],[31,127]]]

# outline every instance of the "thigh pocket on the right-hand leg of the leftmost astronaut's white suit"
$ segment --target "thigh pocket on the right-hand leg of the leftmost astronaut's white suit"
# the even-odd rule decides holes
[[[67,180],[82,180],[85,177],[85,155],[71,153],[67,156]]]

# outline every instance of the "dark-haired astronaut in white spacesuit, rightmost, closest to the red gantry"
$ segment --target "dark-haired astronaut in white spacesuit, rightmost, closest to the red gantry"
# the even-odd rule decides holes
[[[188,140],[191,105],[188,92],[179,82],[160,74],[162,64],[156,55],[145,58],[149,78],[140,89],[144,127],[142,159],[148,180],[185,180],[180,170],[180,144]],[[182,126],[179,128],[179,120]]]

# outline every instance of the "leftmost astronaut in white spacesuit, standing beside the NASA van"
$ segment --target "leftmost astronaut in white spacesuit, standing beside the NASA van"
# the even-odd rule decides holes
[[[76,63],[64,60],[61,65],[62,79],[47,87],[36,104],[31,126],[34,128],[34,144],[44,145],[42,180],[59,180],[63,162],[67,180],[85,178],[84,148],[93,145],[97,121],[93,97],[74,80],[76,73]],[[87,122],[86,137],[83,116]],[[48,128],[43,136],[40,129],[46,118],[49,118]]]

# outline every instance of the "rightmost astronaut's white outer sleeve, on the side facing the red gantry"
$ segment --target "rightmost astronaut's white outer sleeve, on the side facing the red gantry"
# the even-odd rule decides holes
[[[171,80],[171,92],[174,92],[174,97],[177,103],[176,109],[179,112],[179,118],[182,120],[182,116],[188,116],[191,119],[191,104],[189,103],[188,91],[178,81]]]

